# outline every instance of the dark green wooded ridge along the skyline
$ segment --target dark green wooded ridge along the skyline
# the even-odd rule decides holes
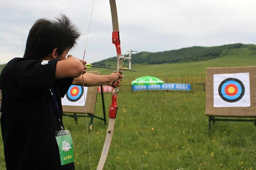
[[[168,64],[204,61],[227,56],[232,50],[235,49],[239,50],[238,53],[244,53],[244,51],[249,51],[251,55],[256,56],[256,45],[236,43],[212,47],[193,46],[181,48],[179,50],[164,51],[157,53],[140,52],[137,54],[133,54],[132,63]],[[99,62],[94,62],[92,64],[101,66],[115,66],[116,57],[108,58]]]

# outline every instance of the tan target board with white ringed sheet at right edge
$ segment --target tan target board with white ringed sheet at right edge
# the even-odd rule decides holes
[[[211,122],[254,122],[256,67],[207,68],[206,115]]]

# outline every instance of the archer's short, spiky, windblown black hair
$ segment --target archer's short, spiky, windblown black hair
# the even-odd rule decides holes
[[[79,36],[78,29],[66,15],[56,20],[38,19],[29,32],[24,58],[40,60],[49,56],[54,48],[61,55],[76,44]]]

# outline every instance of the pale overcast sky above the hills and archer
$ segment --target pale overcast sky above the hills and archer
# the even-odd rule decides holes
[[[256,44],[255,0],[116,0],[116,4],[123,55],[130,49],[162,52]],[[116,56],[109,1],[95,0],[93,11],[92,6],[93,0],[0,0],[0,64],[23,57],[37,19],[53,20],[60,14],[67,15],[81,33],[69,54],[82,59],[86,49],[88,63]]]

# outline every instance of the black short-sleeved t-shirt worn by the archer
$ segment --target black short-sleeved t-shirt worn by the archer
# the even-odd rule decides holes
[[[73,81],[55,79],[57,62],[14,58],[1,72],[1,128],[8,170],[75,169],[74,163],[60,165],[55,139],[60,124],[50,90],[55,91],[62,113],[60,98]]]

